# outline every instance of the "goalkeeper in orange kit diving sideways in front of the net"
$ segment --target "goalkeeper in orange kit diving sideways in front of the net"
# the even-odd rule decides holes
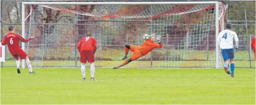
[[[129,53],[129,50],[133,52],[130,59],[124,61],[121,65],[114,67],[113,69],[118,69],[119,67],[125,66],[131,61],[137,60],[138,58],[148,54],[150,51],[152,51],[154,48],[162,48],[162,44],[160,42],[160,36],[157,37],[155,34],[151,34],[148,39],[145,40],[144,43],[142,43],[140,46],[135,46],[132,44],[125,44],[125,56],[122,60],[127,58],[127,54]],[[157,42],[155,42],[157,40]]]

